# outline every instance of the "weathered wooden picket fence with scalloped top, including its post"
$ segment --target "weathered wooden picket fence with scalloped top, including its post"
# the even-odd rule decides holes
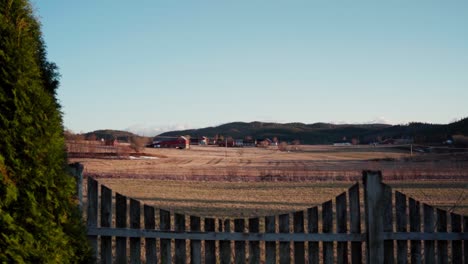
[[[380,172],[359,186],[304,211],[216,219],[113,202],[103,185],[98,199],[88,178],[88,236],[101,263],[468,263],[468,217],[393,194]]]

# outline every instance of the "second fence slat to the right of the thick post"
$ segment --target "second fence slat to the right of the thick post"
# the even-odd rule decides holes
[[[396,231],[406,232],[408,230],[408,215],[406,213],[406,195],[395,192]],[[397,263],[408,263],[408,241],[397,240]]]

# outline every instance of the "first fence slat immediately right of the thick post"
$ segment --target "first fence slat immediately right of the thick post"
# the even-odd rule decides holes
[[[392,189],[383,184],[382,206],[383,206],[383,231],[393,232],[393,211],[392,211]],[[393,264],[395,262],[393,240],[384,241],[384,262]]]

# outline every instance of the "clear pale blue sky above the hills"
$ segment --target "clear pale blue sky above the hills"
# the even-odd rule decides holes
[[[75,132],[468,116],[468,1],[34,1]]]

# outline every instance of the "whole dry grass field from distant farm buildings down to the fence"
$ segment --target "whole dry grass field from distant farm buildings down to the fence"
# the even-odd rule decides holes
[[[143,155],[143,156],[141,156]],[[139,157],[73,158],[85,175],[145,204],[200,216],[250,217],[303,210],[333,199],[364,169],[422,202],[468,215],[466,155],[393,147],[299,146],[145,149]]]

